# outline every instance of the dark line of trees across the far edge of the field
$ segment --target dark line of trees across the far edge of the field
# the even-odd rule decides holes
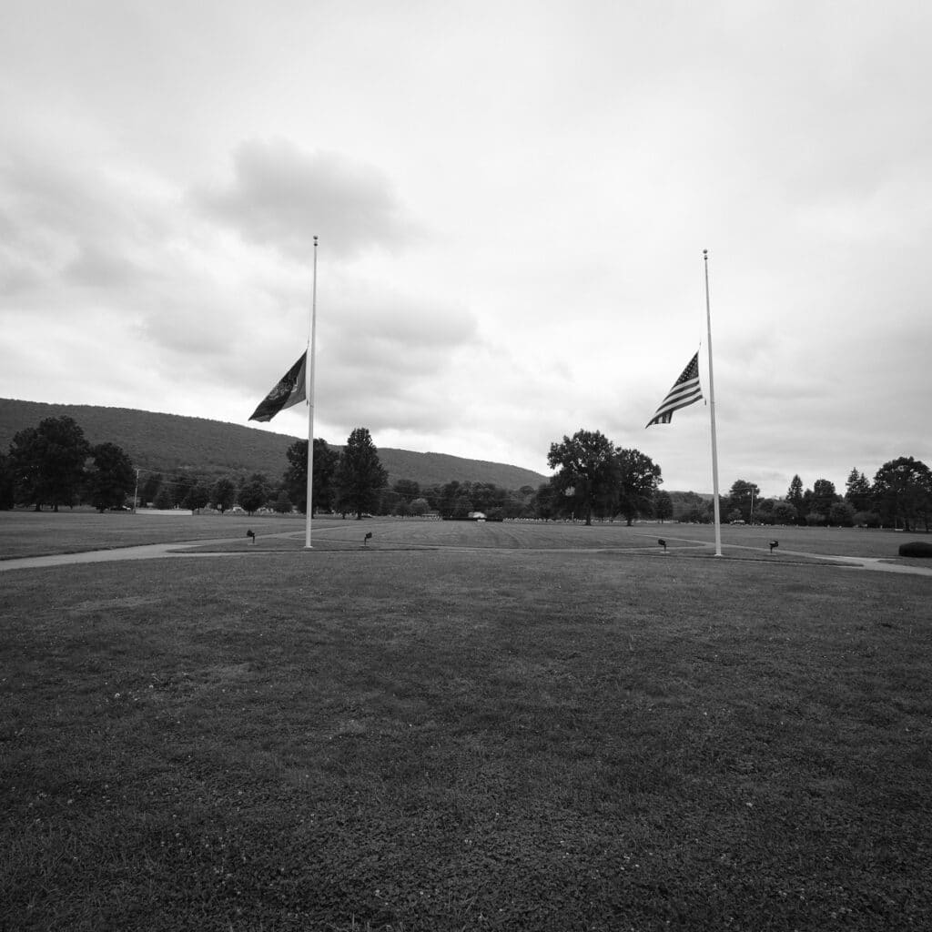
[[[0,507],[33,505],[36,510],[92,505],[103,512],[151,506],[221,514],[241,508],[280,514],[307,511],[308,442],[295,441],[277,480],[264,473],[204,475],[190,470],[155,473],[137,470],[118,445],[90,445],[73,418],[45,418],[17,433],[0,454]],[[548,465],[555,474],[536,489],[451,480],[421,487],[413,479],[391,486],[369,431],[356,428],[340,451],[314,438],[312,507],[316,513],[467,518],[623,518],[706,523],[712,520],[710,496],[666,492],[661,468],[637,449],[613,444],[598,431],[580,430],[551,444]],[[138,492],[138,502],[134,495]],[[929,529],[932,471],[912,457],[891,459],[872,481],[857,469],[843,494],[828,479],[804,488],[794,475],[783,498],[761,498],[760,488],[736,480],[720,497],[723,520],[773,525],[831,525]]]

